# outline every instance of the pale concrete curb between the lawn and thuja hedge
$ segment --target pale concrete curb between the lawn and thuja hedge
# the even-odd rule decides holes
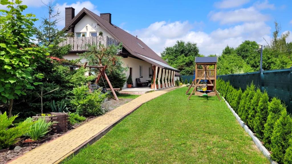
[[[258,139],[258,137],[256,137],[254,135],[254,133],[248,128],[248,126],[241,120],[241,118],[238,116],[238,114],[233,110],[233,108],[229,105],[229,103],[225,100],[224,97],[222,97],[223,100],[225,101],[227,107],[230,109],[230,111],[232,112],[232,114],[235,116],[235,118],[237,119],[238,123],[240,124],[240,126],[242,128],[244,128],[244,130],[248,133],[248,135],[251,136],[251,138],[253,139],[253,142],[256,144],[256,147],[264,154],[264,156],[266,158],[268,158],[268,160],[270,161],[271,164],[278,164],[276,161],[272,160],[271,158],[271,153],[265,148],[265,146],[260,142],[260,140]]]

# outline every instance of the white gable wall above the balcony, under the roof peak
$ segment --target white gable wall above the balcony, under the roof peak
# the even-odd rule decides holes
[[[76,25],[74,28],[74,35],[76,36],[76,33],[79,32],[86,32],[86,36],[90,36],[90,32],[97,32],[98,33],[101,31],[103,36],[113,38],[105,29],[100,27],[99,25],[94,28],[94,24],[96,25],[97,22],[90,18],[88,15],[85,15]],[[92,27],[93,25],[93,27]],[[87,26],[87,28],[86,28]]]

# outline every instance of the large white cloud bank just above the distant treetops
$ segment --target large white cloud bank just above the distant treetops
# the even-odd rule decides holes
[[[218,28],[210,33],[203,32],[202,30],[193,31],[196,27],[192,29],[190,27],[193,27],[193,25],[188,22],[161,21],[131,33],[138,35],[138,38],[158,55],[160,55],[164,48],[173,46],[178,40],[197,43],[201,54],[210,55],[221,54],[227,45],[237,47],[245,40],[265,44],[263,37],[270,39],[271,29],[265,22],[250,22],[225,29]]]

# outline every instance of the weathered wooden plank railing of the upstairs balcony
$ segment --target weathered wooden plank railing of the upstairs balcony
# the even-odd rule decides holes
[[[81,36],[81,37],[66,37],[64,41],[59,43],[59,46],[66,46],[66,45],[72,46],[72,51],[82,51],[82,50],[88,50],[88,44],[89,45],[95,45],[99,47],[99,44],[102,44],[104,46],[109,45],[119,45],[119,41],[116,39],[112,39],[108,36],[102,37],[102,36]]]

